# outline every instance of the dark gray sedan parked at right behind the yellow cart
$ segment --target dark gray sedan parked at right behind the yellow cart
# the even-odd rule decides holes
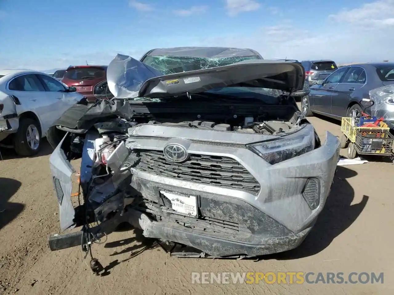
[[[310,87],[309,96],[301,100],[301,111],[305,116],[316,113],[337,120],[359,117],[363,111],[372,116],[385,117],[390,127],[394,128],[391,121],[393,101],[374,101],[375,98],[370,96],[370,90],[393,84],[394,63],[343,66]]]

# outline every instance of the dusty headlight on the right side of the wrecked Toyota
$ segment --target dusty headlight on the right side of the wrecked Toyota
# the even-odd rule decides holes
[[[299,131],[273,140],[250,144],[247,148],[273,165],[312,151],[315,144],[314,128],[307,124]]]

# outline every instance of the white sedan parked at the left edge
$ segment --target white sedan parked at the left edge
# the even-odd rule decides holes
[[[37,154],[48,128],[84,97],[75,91],[44,73],[0,70],[0,146]]]

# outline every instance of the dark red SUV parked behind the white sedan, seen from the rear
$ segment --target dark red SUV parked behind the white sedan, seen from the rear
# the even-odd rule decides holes
[[[69,66],[61,81],[75,87],[92,103],[113,98],[107,84],[107,66]]]

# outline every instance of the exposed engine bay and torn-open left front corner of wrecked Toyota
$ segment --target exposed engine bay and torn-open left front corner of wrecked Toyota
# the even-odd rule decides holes
[[[111,101],[100,103],[112,105]],[[93,128],[87,133],[69,133],[62,144],[68,160],[82,157],[80,186],[84,205],[76,208],[73,220],[76,225],[85,224],[89,218],[91,221],[104,222],[111,219],[114,214],[123,212],[128,206],[150,214],[163,213],[157,200],[144,197],[130,186],[133,174],[130,168],[142,169],[141,159],[146,157],[144,151],[132,145],[135,136],[144,136],[139,132],[142,130],[139,129],[141,127],[163,126],[171,130],[190,128],[220,133],[246,133],[254,134],[253,140],[257,141],[269,139],[271,136],[283,136],[309,124],[292,104],[266,106],[260,109],[250,103],[206,104],[204,109],[210,110],[206,114],[200,113],[201,110],[193,107],[193,103],[190,102],[187,109],[182,108],[177,102],[177,108],[182,109],[182,113],[175,113],[171,103],[165,103],[165,107],[161,103],[123,101],[123,104],[130,105],[133,113],[130,118],[104,117],[94,123]],[[61,138],[65,132],[70,131],[70,127],[56,125],[56,130],[64,131],[60,136],[56,136]],[[49,134],[51,140],[54,133]],[[165,135],[164,133],[163,136]],[[259,138],[260,136],[262,137]],[[217,140],[217,144],[219,142],[220,140]],[[165,204],[169,200],[162,202]],[[171,202],[168,206],[171,207]],[[156,216],[154,218],[156,219]]]

